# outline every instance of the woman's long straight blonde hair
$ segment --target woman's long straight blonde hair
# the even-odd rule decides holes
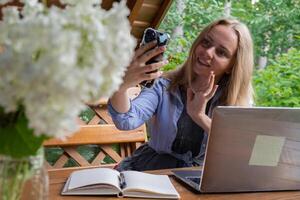
[[[224,25],[232,28],[238,37],[236,58],[233,62],[232,71],[221,97],[224,105],[248,106],[253,99],[251,83],[253,71],[253,42],[249,29],[246,25],[235,19],[219,19],[205,27],[199,34],[190,49],[189,56],[182,67],[167,73],[165,76],[171,79],[170,90],[178,85],[188,87],[193,80],[192,64],[195,59],[195,49],[208,32],[216,25]]]

